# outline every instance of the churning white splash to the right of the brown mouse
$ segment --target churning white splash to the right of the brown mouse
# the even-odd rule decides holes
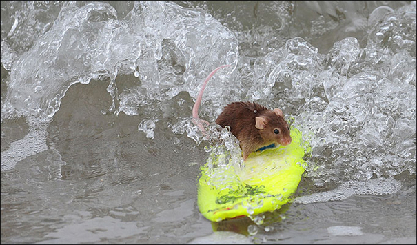
[[[232,75],[236,81],[228,86],[235,89],[228,99],[254,100],[295,115],[295,126],[312,145],[306,176],[316,186],[403,171],[415,175],[414,7],[379,8],[365,43],[346,37],[327,54],[296,37],[264,57],[239,57],[240,73]]]

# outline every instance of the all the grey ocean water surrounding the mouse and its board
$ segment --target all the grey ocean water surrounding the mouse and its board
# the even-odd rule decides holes
[[[281,108],[312,152],[292,204],[212,223],[223,64],[202,119]],[[416,243],[416,1],[1,1],[0,94],[1,243]]]

